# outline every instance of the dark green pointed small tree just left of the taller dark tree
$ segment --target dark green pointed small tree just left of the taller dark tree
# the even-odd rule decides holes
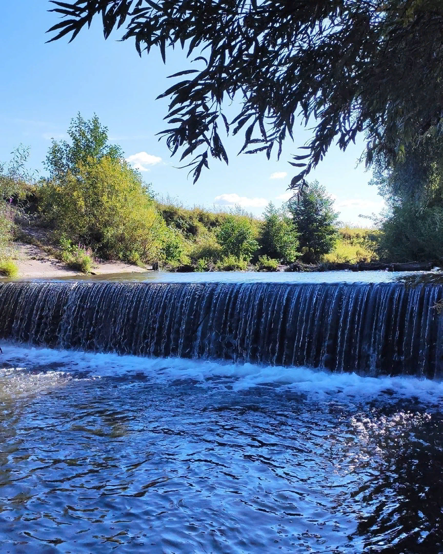
[[[297,228],[287,214],[270,202],[264,212],[259,245],[260,254],[276,260],[291,262],[298,255]]]

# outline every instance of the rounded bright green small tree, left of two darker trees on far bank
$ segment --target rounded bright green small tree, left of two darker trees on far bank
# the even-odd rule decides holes
[[[254,238],[254,229],[246,217],[229,214],[217,230],[217,240],[223,254],[249,260],[258,248]]]

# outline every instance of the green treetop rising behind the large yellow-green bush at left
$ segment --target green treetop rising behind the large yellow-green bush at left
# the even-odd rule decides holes
[[[53,140],[49,148],[44,165],[51,177],[68,173],[75,175],[80,164],[93,165],[104,157],[112,160],[122,160],[124,157],[120,146],[108,143],[107,127],[101,125],[95,114],[90,120],[77,114],[71,120],[68,135],[70,142]]]

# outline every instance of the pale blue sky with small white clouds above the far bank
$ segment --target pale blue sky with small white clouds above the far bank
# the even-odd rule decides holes
[[[287,198],[296,169],[287,160],[310,138],[309,131],[300,126],[280,161],[260,154],[236,156],[241,140],[231,138],[226,142],[229,166],[210,162],[210,170],[194,185],[187,170],[176,168],[179,158],[171,158],[164,141],[155,136],[166,128],[167,112],[167,100],[155,99],[171,85],[167,75],[188,68],[183,53],[167,53],[166,66],[158,52],[139,58],[133,43],[117,42],[118,35],[105,41],[98,21],[73,43],[61,39],[45,44],[45,31],[58,22],[56,14],[48,13],[50,7],[47,0],[15,0],[2,9],[0,160],[8,160],[22,143],[31,148],[29,165],[43,172],[51,138],[64,138],[77,112],[85,118],[95,112],[109,128],[111,141],[120,144],[163,197],[186,206],[240,204],[255,214],[267,202],[278,205]],[[318,179],[336,199],[343,222],[368,225],[359,214],[378,213],[383,200],[367,184],[371,174],[363,165],[356,167],[363,147],[362,136],[344,153],[332,148],[310,180]]]

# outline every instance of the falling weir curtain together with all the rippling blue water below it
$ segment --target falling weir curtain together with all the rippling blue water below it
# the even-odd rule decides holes
[[[0,285],[2,554],[443,552],[440,286],[148,286]]]

